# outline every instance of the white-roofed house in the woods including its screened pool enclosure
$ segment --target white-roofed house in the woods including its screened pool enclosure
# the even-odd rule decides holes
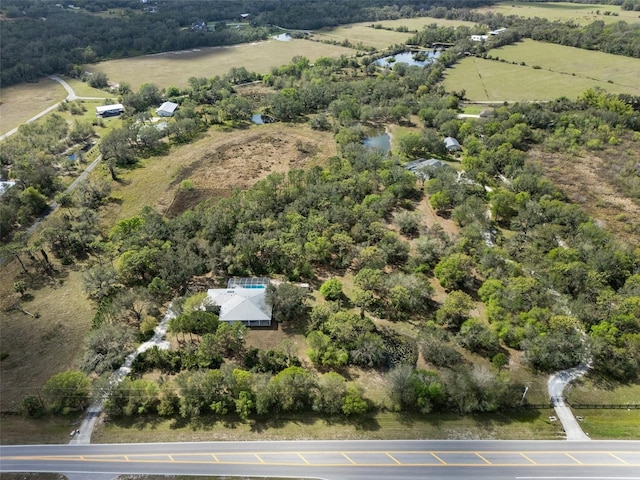
[[[207,291],[205,309],[217,311],[222,322],[242,322],[247,327],[271,325],[272,308],[266,302],[268,278],[232,278],[227,288]]]

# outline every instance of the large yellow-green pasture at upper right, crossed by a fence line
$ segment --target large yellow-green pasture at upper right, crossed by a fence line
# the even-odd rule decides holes
[[[467,98],[478,101],[575,98],[593,87],[640,95],[640,59],[533,40],[493,49],[489,55],[506,62],[465,58],[447,70],[445,88],[464,89]]]

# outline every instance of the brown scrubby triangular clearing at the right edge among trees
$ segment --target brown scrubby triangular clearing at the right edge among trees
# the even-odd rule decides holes
[[[625,147],[629,147],[626,145]],[[636,158],[640,155],[635,146]],[[625,195],[614,172],[622,152],[581,152],[565,155],[533,150],[530,155],[569,199],[598,224],[631,245],[640,243],[640,205]]]

